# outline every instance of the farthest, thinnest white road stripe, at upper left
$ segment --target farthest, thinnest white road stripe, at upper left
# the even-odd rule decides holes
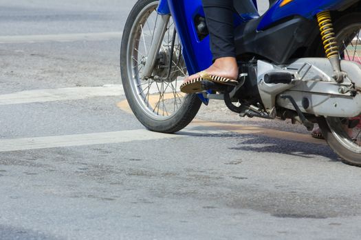
[[[45,42],[74,42],[82,40],[110,40],[122,38],[122,32],[96,32],[84,34],[44,34],[0,36],[0,44],[4,43],[45,43]]]

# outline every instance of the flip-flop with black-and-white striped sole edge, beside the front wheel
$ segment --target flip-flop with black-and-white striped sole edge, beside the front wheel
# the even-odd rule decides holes
[[[199,74],[200,77],[184,82],[180,86],[180,91],[182,91],[183,93],[199,93],[201,91],[204,91],[201,85],[201,82],[203,80],[208,80],[217,84],[225,84],[230,86],[237,86],[238,84],[237,80],[232,80],[227,77],[219,77],[217,75],[210,75],[206,71],[201,71],[197,74]]]

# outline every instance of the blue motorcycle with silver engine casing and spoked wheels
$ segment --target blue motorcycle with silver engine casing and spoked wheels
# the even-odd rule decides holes
[[[318,123],[344,163],[361,167],[361,1],[234,1],[237,86],[203,81],[183,94],[186,75],[212,64],[201,0],[138,0],[125,23],[120,71],[135,117],[149,130],[186,127],[201,104],[224,101],[240,117]]]

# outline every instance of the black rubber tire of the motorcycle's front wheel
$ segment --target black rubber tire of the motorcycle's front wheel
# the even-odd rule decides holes
[[[182,105],[179,106],[176,112],[173,112],[171,116],[167,117],[157,117],[151,115],[149,112],[144,110],[144,106],[140,105],[139,99],[137,101],[137,96],[135,96],[134,91],[132,91],[132,82],[135,81],[128,73],[128,64],[131,64],[128,59],[129,43],[134,41],[134,32],[133,26],[135,26],[135,21],[141,12],[146,8],[146,6],[157,3],[156,0],[139,0],[135,3],[133,9],[131,10],[127,22],[124,26],[122,43],[120,47],[120,73],[122,77],[122,84],[124,88],[125,95],[127,97],[129,106],[133,111],[135,117],[142,123],[146,128],[155,132],[164,132],[164,133],[173,133],[179,130],[182,130],[193,120],[195,115],[201,106],[201,100],[195,94],[186,95],[183,99]]]

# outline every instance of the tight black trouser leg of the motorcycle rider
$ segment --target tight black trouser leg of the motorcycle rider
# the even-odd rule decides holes
[[[213,60],[235,57],[233,0],[202,0]]]

